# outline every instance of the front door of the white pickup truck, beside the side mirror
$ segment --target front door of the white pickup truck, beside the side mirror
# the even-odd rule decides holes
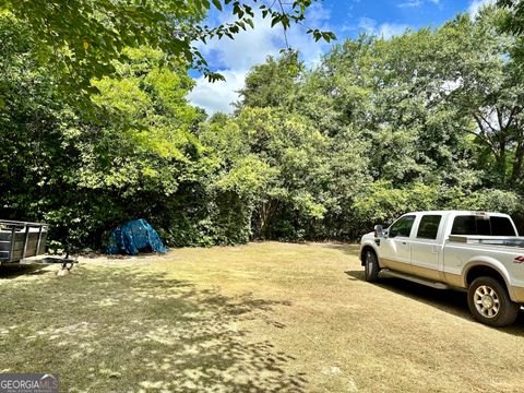
[[[398,218],[388,230],[388,235],[380,242],[380,264],[400,272],[410,272],[410,239],[415,215],[405,215]]]

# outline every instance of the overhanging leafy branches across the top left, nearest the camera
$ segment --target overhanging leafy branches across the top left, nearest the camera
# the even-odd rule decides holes
[[[258,0],[0,0],[0,12],[10,12],[28,26],[38,43],[38,55],[60,72],[61,86],[68,92],[94,92],[93,78],[115,73],[114,60],[122,60],[123,49],[148,46],[204,72],[210,80],[222,76],[207,67],[194,41],[213,37],[234,38],[241,29],[253,27],[255,12],[284,31],[291,23],[302,24],[311,0],[272,7]],[[203,25],[212,9],[230,12],[231,23],[216,27]],[[308,28],[315,39],[334,39],[330,32]]]

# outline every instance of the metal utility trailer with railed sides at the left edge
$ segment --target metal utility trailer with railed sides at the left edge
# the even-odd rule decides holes
[[[76,261],[33,258],[46,253],[48,228],[44,223],[0,219],[0,265],[61,263],[70,270]]]

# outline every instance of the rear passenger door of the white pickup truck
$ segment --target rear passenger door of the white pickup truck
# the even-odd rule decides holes
[[[440,281],[440,247],[437,235],[442,223],[439,214],[425,214],[418,223],[417,234],[412,239],[412,271],[414,274]]]

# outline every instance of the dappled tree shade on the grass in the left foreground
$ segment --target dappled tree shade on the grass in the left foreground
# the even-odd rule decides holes
[[[282,327],[270,311],[289,302],[123,267],[14,282],[0,285],[0,370],[58,372],[68,392],[305,391],[290,356],[240,327]]]

